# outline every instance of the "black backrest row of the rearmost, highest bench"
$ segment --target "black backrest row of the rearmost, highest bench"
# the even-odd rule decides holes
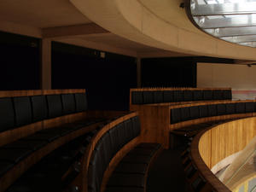
[[[131,91],[131,104],[231,100],[231,90],[143,90]]]

